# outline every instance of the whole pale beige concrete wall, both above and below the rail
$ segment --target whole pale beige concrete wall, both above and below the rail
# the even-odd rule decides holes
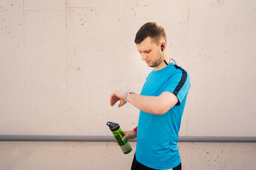
[[[112,135],[139,110],[109,106],[140,93],[151,68],[134,44],[161,23],[191,76],[180,136],[256,136],[255,0],[2,0],[0,135]],[[135,150],[135,142],[131,142]],[[183,169],[254,170],[255,143],[180,143]],[[114,142],[0,142],[1,170],[130,169]]]

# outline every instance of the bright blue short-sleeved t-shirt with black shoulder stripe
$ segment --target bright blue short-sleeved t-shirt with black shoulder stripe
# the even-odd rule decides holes
[[[158,170],[180,164],[178,132],[189,88],[189,75],[174,63],[149,73],[141,95],[159,96],[168,91],[177,96],[178,103],[163,115],[140,111],[135,152],[139,163]]]

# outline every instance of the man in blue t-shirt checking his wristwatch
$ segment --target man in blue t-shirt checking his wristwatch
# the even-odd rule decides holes
[[[156,22],[147,22],[136,34],[141,59],[153,67],[140,95],[115,91],[110,106],[129,102],[140,110],[138,126],[124,131],[123,138],[137,137],[131,170],[181,170],[177,148],[181,117],[190,88],[186,71],[171,62],[166,51],[166,33]]]

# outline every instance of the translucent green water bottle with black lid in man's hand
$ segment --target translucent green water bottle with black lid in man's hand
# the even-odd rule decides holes
[[[124,137],[124,132],[121,130],[119,124],[114,122],[108,122],[107,125],[109,126],[110,130],[112,131],[114,137],[117,140],[117,143],[121,147],[121,150],[124,152],[124,154],[128,154],[132,151],[132,147],[130,146],[127,139],[122,141],[122,138]]]

